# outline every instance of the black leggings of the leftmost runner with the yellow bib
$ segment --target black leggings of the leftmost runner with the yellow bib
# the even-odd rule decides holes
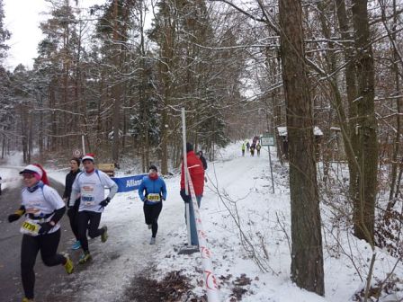
[[[21,244],[21,277],[25,297],[33,299],[33,288],[35,286],[36,256],[40,251],[42,262],[47,266],[55,266],[66,263],[66,258],[56,253],[60,241],[60,229],[47,235],[23,235]]]

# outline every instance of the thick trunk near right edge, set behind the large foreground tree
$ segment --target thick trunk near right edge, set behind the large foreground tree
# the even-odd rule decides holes
[[[354,234],[373,244],[377,194],[378,138],[374,104],[374,67],[367,0],[353,0],[358,98],[357,128],[359,150],[359,199],[354,204]]]

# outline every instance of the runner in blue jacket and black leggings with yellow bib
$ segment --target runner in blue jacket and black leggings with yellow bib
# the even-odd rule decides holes
[[[139,186],[139,198],[144,202],[144,218],[151,228],[149,244],[156,244],[158,217],[162,210],[162,200],[166,200],[166,182],[158,176],[157,167],[149,167],[148,176],[144,176]]]

